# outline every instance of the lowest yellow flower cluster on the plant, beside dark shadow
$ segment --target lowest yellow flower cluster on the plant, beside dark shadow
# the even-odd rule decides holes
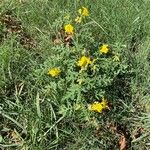
[[[103,110],[108,109],[107,101],[103,98],[102,102],[94,102],[93,104],[88,105],[88,109],[90,111],[95,111],[98,113],[102,113]]]

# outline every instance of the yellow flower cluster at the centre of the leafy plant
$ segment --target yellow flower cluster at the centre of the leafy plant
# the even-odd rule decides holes
[[[78,61],[78,66],[81,68],[87,67],[89,64],[92,64],[90,57],[82,56]]]

